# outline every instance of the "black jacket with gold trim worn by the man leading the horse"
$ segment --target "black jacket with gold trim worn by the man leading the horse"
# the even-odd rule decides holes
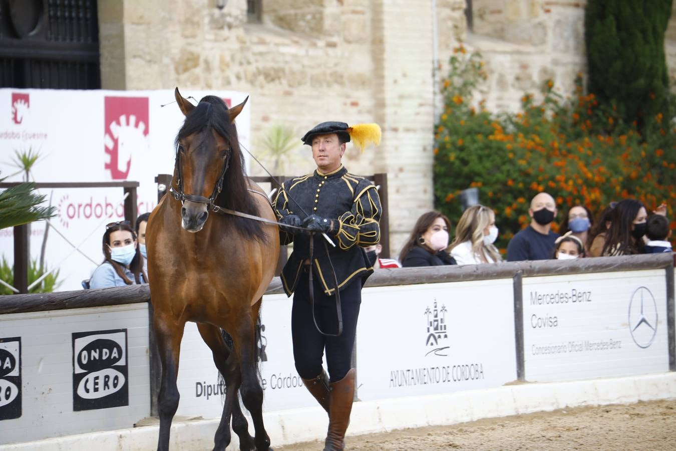
[[[315,235],[312,252],[315,279],[327,295],[335,290],[331,264],[339,291],[355,277],[361,277],[363,283],[373,273],[363,247],[380,241],[382,210],[378,191],[368,179],[350,174],[343,166],[329,174],[314,171],[285,181],[273,207],[279,220],[289,214],[301,219],[305,219],[306,214],[316,214],[337,221],[337,227],[334,227],[337,233],[331,237],[336,246],[331,246],[321,235]],[[280,230],[280,239],[283,245],[293,241],[293,252],[281,274],[284,291],[290,296],[303,262],[310,258],[310,235]]]

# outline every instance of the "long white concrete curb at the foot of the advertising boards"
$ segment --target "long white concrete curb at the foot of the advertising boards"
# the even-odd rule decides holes
[[[453,394],[356,402],[348,435],[393,429],[452,425],[491,417],[556,410],[564,407],[631,404],[676,398],[676,373],[559,383],[524,383],[459,391]],[[172,450],[211,450],[218,419],[175,423]],[[272,447],[323,440],[328,419],[319,407],[264,414]],[[250,422],[249,422],[250,423]],[[253,429],[249,425],[249,429]],[[157,446],[158,426],[69,435],[36,442],[0,445],[0,451],[137,451]],[[228,450],[238,450],[233,433]]]

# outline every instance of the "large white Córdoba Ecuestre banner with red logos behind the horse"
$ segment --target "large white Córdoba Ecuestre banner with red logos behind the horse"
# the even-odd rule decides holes
[[[200,99],[212,94],[236,105],[246,97],[233,91],[184,91]],[[41,158],[32,168],[32,180],[47,182],[137,181],[139,214],[157,204],[155,176],[171,174],[174,138],[184,116],[171,90],[69,91],[0,89],[0,176],[23,181],[17,173],[15,151],[29,149]],[[195,102],[195,100],[193,100]],[[167,104],[164,108],[162,105]],[[240,142],[249,149],[251,99],[237,116]],[[247,158],[248,161],[248,158]],[[122,188],[41,189],[57,208],[51,223],[89,257],[50,230],[45,260],[59,266],[59,290],[79,289],[103,260],[103,225],[124,217]],[[39,258],[45,222],[32,224],[30,256]],[[14,258],[13,230],[0,231],[0,254]],[[91,260],[90,260],[91,259]]]

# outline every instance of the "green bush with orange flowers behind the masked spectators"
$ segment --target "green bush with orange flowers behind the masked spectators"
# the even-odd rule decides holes
[[[584,94],[581,74],[575,93],[562,98],[551,81],[543,99],[525,94],[522,111],[491,114],[470,104],[486,74],[481,56],[462,51],[450,59],[441,92],[445,110],[435,126],[435,205],[457,223],[460,191],[477,187],[481,204],[496,212],[498,247],[530,222],[533,195],[550,193],[558,222],[574,205],[594,214],[614,200],[632,197],[648,210],[662,202],[668,217],[676,206],[676,128],[656,115],[640,134],[612,108]],[[671,109],[676,111],[676,109]],[[676,222],[672,222],[676,227]],[[556,231],[557,226],[553,224]]]

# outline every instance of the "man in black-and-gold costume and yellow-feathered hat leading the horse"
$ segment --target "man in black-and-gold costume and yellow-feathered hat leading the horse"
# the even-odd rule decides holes
[[[317,169],[285,181],[274,199],[279,222],[291,226],[281,228],[281,243],[293,242],[281,275],[287,295],[293,293],[293,358],[306,387],[329,414],[328,451],[344,447],[354,398],[352,348],[361,291],[373,272],[364,247],[380,241],[378,191],[347,172],[341,159],[346,143],[352,140],[363,150],[366,143],[379,143],[380,134],[377,124],[318,124],[302,138],[312,146]],[[330,377],[322,368],[324,350]]]

